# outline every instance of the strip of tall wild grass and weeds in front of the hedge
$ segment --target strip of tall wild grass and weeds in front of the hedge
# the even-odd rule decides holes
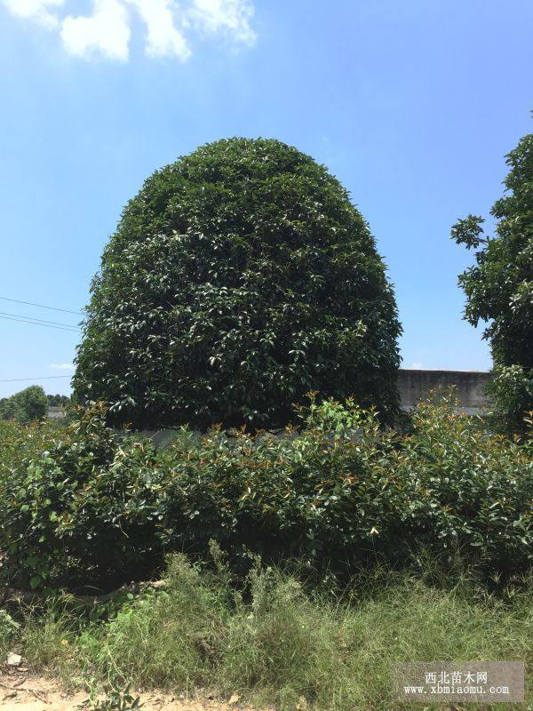
[[[299,576],[254,567],[242,595],[214,552],[215,570],[172,556],[165,589],[90,607],[98,621],[87,623],[79,603],[76,608],[68,601],[42,616],[27,614],[19,629],[7,620],[0,654],[18,651],[30,666],[52,670],[70,687],[89,683],[96,691],[96,683],[109,681],[123,690],[133,683],[176,697],[199,693],[200,699],[207,688],[223,701],[236,693],[246,708],[279,711],[405,709],[392,698],[398,660],[533,664],[530,580],[495,597],[465,578],[432,585],[428,565],[418,575],[385,569],[359,574],[339,595],[331,583],[310,589]],[[528,674],[529,704],[532,691]],[[453,709],[475,711],[480,704]]]

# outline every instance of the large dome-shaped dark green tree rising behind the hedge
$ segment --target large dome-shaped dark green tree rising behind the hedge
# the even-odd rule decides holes
[[[79,402],[135,427],[284,426],[310,389],[398,406],[394,294],[346,190],[276,140],[155,172],[93,280]]]

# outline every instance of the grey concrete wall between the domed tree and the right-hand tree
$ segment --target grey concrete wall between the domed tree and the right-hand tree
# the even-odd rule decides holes
[[[398,375],[398,390],[402,408],[410,410],[420,400],[426,400],[431,390],[454,387],[459,411],[480,414],[489,403],[485,386],[490,373],[486,371],[407,371]]]

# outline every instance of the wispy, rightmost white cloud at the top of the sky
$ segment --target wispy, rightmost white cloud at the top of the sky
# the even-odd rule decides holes
[[[189,11],[195,24],[210,34],[224,33],[236,43],[251,46],[256,33],[251,28],[254,7],[249,0],[193,0]]]

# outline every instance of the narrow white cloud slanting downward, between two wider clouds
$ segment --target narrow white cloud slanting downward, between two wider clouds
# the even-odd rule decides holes
[[[185,61],[191,54],[187,40],[176,28],[177,10],[171,0],[126,0],[139,11],[147,26],[147,54],[152,57],[174,56]]]

